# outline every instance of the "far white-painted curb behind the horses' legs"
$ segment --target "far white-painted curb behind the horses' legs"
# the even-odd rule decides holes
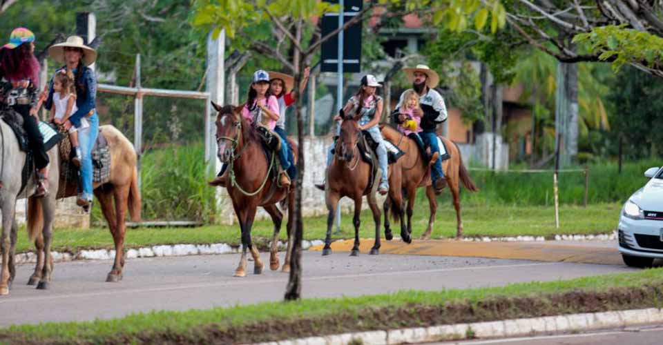
[[[543,236],[514,236],[514,237],[464,237],[462,242],[564,242],[564,241],[606,241],[616,240],[617,233],[599,235],[555,235],[554,239],[546,239]],[[394,237],[395,241],[400,238]],[[336,239],[334,242],[343,242],[345,239]],[[321,239],[304,240],[302,248],[308,249],[312,246],[325,244]],[[285,250],[285,242],[279,242],[279,250]],[[209,255],[209,254],[233,254],[239,253],[239,247],[227,243],[215,244],[162,244],[131,248],[126,250],[127,259],[138,257],[177,257],[187,255]],[[74,260],[111,260],[115,258],[115,250],[108,249],[81,249],[75,253],[52,251],[51,255],[55,262],[69,262]],[[37,262],[34,252],[19,253],[15,255],[17,264],[32,264]]]

